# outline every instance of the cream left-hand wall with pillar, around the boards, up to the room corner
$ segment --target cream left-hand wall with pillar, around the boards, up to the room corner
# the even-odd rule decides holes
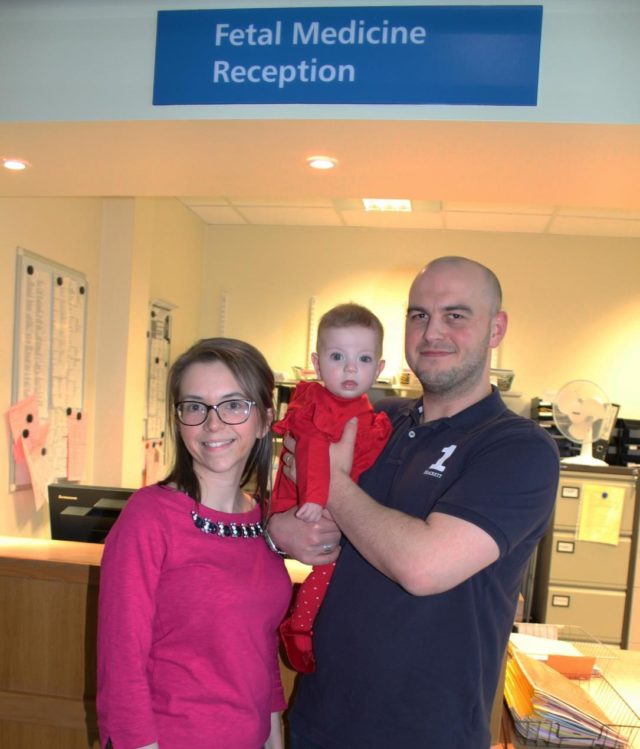
[[[151,299],[175,305],[174,355],[198,337],[204,225],[173,199],[0,198],[3,412],[11,404],[18,246],[86,274],[86,483],[139,485],[148,305]],[[31,491],[7,492],[9,452],[6,427],[0,435],[0,535],[48,537],[47,509],[36,512]]]

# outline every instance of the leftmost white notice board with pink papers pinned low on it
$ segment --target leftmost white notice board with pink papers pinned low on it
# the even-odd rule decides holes
[[[87,296],[84,274],[18,248],[10,489],[37,504],[43,484],[84,478]]]

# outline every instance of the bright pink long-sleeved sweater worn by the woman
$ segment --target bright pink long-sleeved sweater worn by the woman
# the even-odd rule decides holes
[[[277,627],[291,596],[262,538],[208,535],[194,502],[150,486],[127,502],[100,573],[98,720],[102,746],[258,749],[285,707]],[[260,509],[225,524],[260,520]]]

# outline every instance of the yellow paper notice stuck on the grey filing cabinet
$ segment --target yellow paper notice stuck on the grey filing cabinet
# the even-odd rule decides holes
[[[618,545],[624,487],[585,484],[582,487],[578,541]]]

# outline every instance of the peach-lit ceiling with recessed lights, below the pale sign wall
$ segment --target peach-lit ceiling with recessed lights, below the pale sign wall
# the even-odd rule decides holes
[[[305,158],[336,157],[331,172]],[[362,120],[0,123],[0,195],[174,196],[209,224],[640,237],[640,126]],[[409,198],[410,214],[360,198]]]

